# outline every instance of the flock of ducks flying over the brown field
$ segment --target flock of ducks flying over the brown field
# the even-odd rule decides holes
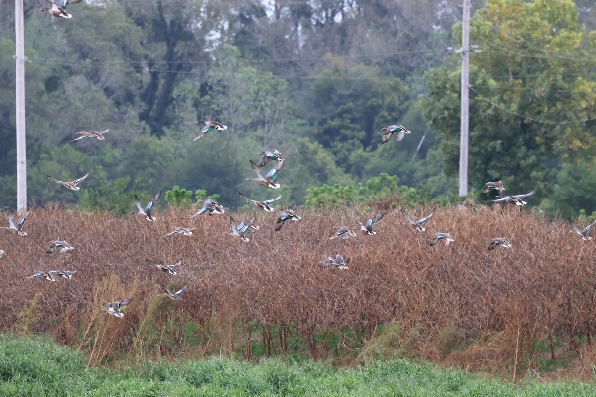
[[[51,4],[51,7],[45,7],[41,11],[47,11],[47,12],[49,12],[49,14],[53,15],[56,18],[69,18],[70,19],[70,18],[72,18],[72,15],[70,15],[66,12],[67,6],[70,4],[78,4],[82,0],[70,0],[70,1],[69,0],[60,0],[58,5],[54,1],[51,1],[51,0],[46,0],[46,1],[48,1],[48,3]],[[200,133],[194,139],[191,140],[191,142],[197,142],[198,140],[202,139],[204,136],[207,135],[207,133],[211,132],[212,130],[225,131],[228,129],[228,126],[218,123],[217,121],[213,121],[213,120],[199,120],[196,123],[204,124],[204,127],[201,129]],[[383,127],[381,130],[384,131],[383,137],[381,139],[381,143],[383,143],[383,144],[389,142],[389,140],[391,139],[391,137],[394,134],[397,134],[396,140],[398,142],[401,142],[401,140],[403,139],[403,137],[406,134],[411,133],[411,131],[406,129],[404,126],[395,125],[395,124]],[[77,142],[79,140],[83,140],[83,139],[87,139],[87,138],[94,138],[94,139],[97,139],[100,141],[104,141],[105,140],[104,134],[109,131],[110,131],[109,129],[106,129],[103,131],[81,131],[81,132],[77,133],[77,135],[80,135],[79,137],[76,137],[75,139],[70,139],[69,142]],[[259,164],[257,164],[256,162],[254,162],[252,160],[250,161],[250,166],[252,167],[254,173],[256,173],[256,177],[248,178],[246,180],[257,182],[257,183],[259,183],[259,185],[264,186],[264,187],[269,187],[271,189],[279,189],[280,183],[276,182],[276,178],[278,176],[278,173],[284,167],[285,158],[277,150],[275,150],[273,152],[269,152],[269,151],[260,152],[259,155],[262,155],[262,160],[260,161]],[[264,167],[266,164],[268,164],[269,161],[275,161],[275,162],[277,162],[277,165],[275,165],[274,168],[271,168],[271,170],[269,170],[269,172],[267,174],[263,175],[261,168]],[[85,174],[84,176],[82,176],[78,179],[75,179],[75,180],[72,180],[69,182],[57,180],[51,176],[47,176],[47,177],[52,182],[58,183],[64,187],[66,187],[67,189],[78,191],[78,190],[80,190],[80,186],[78,186],[78,185],[81,182],[83,182],[88,176],[89,176],[89,173]],[[497,190],[498,192],[501,192],[502,190],[505,190],[505,187],[503,186],[501,181],[488,182],[483,187],[482,193],[486,194],[491,190]],[[519,205],[523,208],[527,204],[527,202],[524,201],[524,199],[527,196],[532,195],[533,193],[534,192],[532,191],[532,192],[526,193],[526,194],[511,195],[511,196],[499,194],[498,196],[496,196],[496,198],[489,200],[489,202],[515,204],[515,205]],[[154,198],[151,199],[151,201],[148,202],[147,205],[145,205],[145,207],[143,207],[141,205],[141,202],[139,201],[138,197],[135,195],[134,204],[138,210],[138,215],[147,221],[151,221],[151,222],[156,221],[157,218],[152,214],[151,211],[153,210],[154,205],[157,203],[157,201],[159,200],[161,195],[162,195],[162,192],[157,193],[157,195],[155,195]],[[240,198],[243,199],[244,201],[246,201],[248,204],[253,204],[260,211],[270,212],[270,213],[280,212],[280,215],[277,218],[277,222],[275,223],[275,230],[280,230],[284,226],[286,221],[290,221],[290,220],[291,221],[300,221],[300,220],[302,220],[302,217],[300,217],[296,213],[296,207],[294,207],[293,210],[290,210],[290,209],[275,210],[274,208],[271,207],[275,202],[277,202],[281,199],[281,195],[277,196],[274,199],[269,199],[269,200],[265,200],[265,201],[256,201],[256,200],[247,198],[247,196],[243,195],[243,193],[240,193]],[[182,219],[185,219],[185,220],[192,219],[194,217],[197,217],[197,216],[205,214],[205,213],[207,213],[209,216],[223,215],[223,214],[225,214],[225,212],[226,212],[226,209],[221,204],[219,204],[217,201],[215,201],[214,199],[207,199],[207,200],[203,201],[201,208],[195,214],[192,214],[188,217],[184,217]],[[134,212],[131,212],[131,214],[134,214]],[[426,226],[427,222],[433,217],[434,212],[431,212],[426,217],[423,217],[417,221],[412,220],[412,218],[403,209],[401,210],[401,214],[406,220],[406,222],[404,222],[403,224],[412,226],[419,232],[426,232],[425,226]],[[21,218],[21,220],[18,221],[18,223],[15,223],[14,218],[13,218],[13,212],[11,210],[9,210],[9,213],[8,213],[9,226],[8,227],[0,226],[0,228],[1,229],[9,229],[9,230],[17,233],[19,236],[27,236],[27,233],[24,232],[24,230],[23,230],[23,226],[24,226],[25,221],[30,217],[30,215],[31,215],[31,211],[28,211],[23,216],[23,218]],[[378,223],[379,221],[381,221],[383,219],[383,217],[384,217],[384,215],[379,213],[379,214],[375,215],[373,218],[368,219],[366,221],[366,223],[364,223],[364,224],[361,223],[360,221],[356,221],[356,223],[360,226],[360,231],[364,235],[374,236],[374,235],[377,235],[377,232],[373,231],[373,226],[375,223]],[[229,217],[229,227],[230,227],[231,231],[226,232],[225,234],[233,236],[238,239],[241,239],[241,240],[243,240],[243,242],[249,242],[250,239],[248,237],[248,233],[259,230],[259,226],[254,224],[254,220],[255,220],[255,218],[252,218],[249,221],[241,221],[240,223],[237,223],[237,221],[235,221],[234,218]],[[594,226],[594,223],[596,223],[596,220],[581,230],[578,228],[578,226],[576,226],[575,223],[573,223],[573,221],[570,218],[568,218],[568,221],[569,221],[570,225],[572,226],[573,232],[575,232],[576,234],[581,236],[583,240],[591,240],[592,239],[591,236],[588,236],[588,233],[591,230],[592,226]],[[174,228],[174,230],[172,230],[172,232],[166,233],[165,235],[162,235],[162,236],[165,237],[165,236],[173,236],[173,235],[178,235],[178,234],[183,235],[183,236],[192,236],[193,231],[195,230],[195,228],[187,228],[187,227],[179,227],[179,226],[174,226],[173,228]],[[347,240],[350,237],[356,237],[356,232],[354,232],[349,227],[342,226],[342,227],[340,227],[339,230],[337,230],[336,233],[334,233],[333,236],[328,237],[328,239],[335,240],[338,237],[340,237],[340,239],[342,239],[342,240]],[[445,241],[445,245],[449,245],[449,243],[455,242],[455,239],[451,236],[450,233],[437,232],[430,239],[429,245],[430,246],[436,245],[441,240]],[[46,252],[48,254],[51,254],[53,252],[58,252],[59,254],[64,254],[65,252],[73,249],[73,247],[70,246],[69,243],[67,243],[64,240],[54,240],[54,241],[50,241],[48,243],[51,243],[49,248],[46,250]],[[501,245],[504,248],[511,247],[511,244],[508,242],[507,238],[505,236],[503,236],[503,237],[497,237],[497,238],[493,239],[491,241],[491,243],[489,243],[488,249],[494,249],[498,245]],[[0,260],[2,258],[4,258],[4,255],[5,255],[5,251],[0,249]],[[164,271],[167,274],[169,274],[170,276],[176,276],[175,269],[179,265],[182,264],[182,261],[178,261],[177,263],[170,264],[170,265],[157,264],[150,260],[147,260],[147,262],[150,265],[150,267],[156,268],[157,271]],[[350,262],[349,257],[340,255],[340,254],[336,254],[336,255],[327,257],[325,260],[321,261],[320,264],[322,267],[325,267],[325,268],[334,267],[339,270],[347,270],[349,262]],[[65,279],[71,279],[73,277],[73,274],[76,273],[76,271],[68,271],[68,270],[51,270],[51,271],[36,271],[36,272],[37,273],[33,274],[32,276],[24,277],[24,278],[34,279],[34,278],[38,278],[38,277],[43,277],[46,280],[55,282],[55,281],[57,281],[57,277],[64,277]],[[176,292],[172,292],[170,289],[168,289],[164,285],[162,285],[162,289],[164,290],[164,293],[163,293],[164,296],[167,296],[168,298],[172,299],[173,301],[181,302],[182,301],[182,293],[184,293],[184,291],[187,289],[187,285],[184,285],[180,290],[178,290]],[[114,317],[122,318],[124,316],[124,312],[122,311],[122,309],[125,308],[126,305],[128,305],[131,301],[132,301],[132,299],[126,298],[126,299],[119,299],[113,303],[104,302],[104,304],[101,306],[100,310],[105,311],[108,314],[113,315]]]

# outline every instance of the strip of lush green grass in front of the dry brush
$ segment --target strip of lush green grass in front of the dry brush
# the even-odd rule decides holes
[[[517,386],[406,360],[335,369],[326,362],[224,358],[86,368],[49,339],[0,337],[0,396],[594,396],[587,383]]]

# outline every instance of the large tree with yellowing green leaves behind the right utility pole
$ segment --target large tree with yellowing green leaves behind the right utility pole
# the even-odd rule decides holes
[[[594,158],[596,34],[586,35],[570,0],[491,0],[472,20],[484,46],[471,57],[468,177],[503,180],[511,194],[548,192],[561,161]],[[520,24],[519,21],[524,21]],[[425,75],[424,117],[437,131],[445,171],[459,163],[460,71]]]

